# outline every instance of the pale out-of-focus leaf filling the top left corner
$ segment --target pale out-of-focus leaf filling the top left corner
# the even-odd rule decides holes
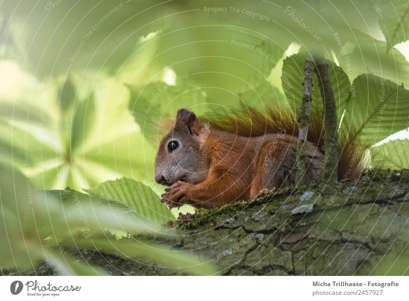
[[[156,0],[2,2],[24,67],[36,76],[104,66],[115,73],[139,37],[163,28],[166,2]],[[164,18],[165,17],[165,18]]]

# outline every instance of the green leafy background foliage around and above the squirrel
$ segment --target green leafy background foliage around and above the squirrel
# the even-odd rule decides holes
[[[36,196],[39,203],[61,203],[77,191],[84,202],[97,198],[102,212],[113,206],[164,223],[173,216],[159,202],[163,188],[153,181],[153,163],[165,120],[180,107],[201,115],[273,105],[298,114],[306,52],[328,59],[339,132],[376,145],[369,166],[408,168],[400,151],[407,139],[379,142],[409,127],[409,63],[394,47],[407,40],[409,4],[374,3],[3,1],[0,162],[14,169],[2,170],[2,196],[11,191],[6,173],[16,173],[24,178],[15,191],[27,189],[26,181],[62,191]],[[312,112],[323,116],[316,78],[314,86]],[[2,204],[18,206],[26,196],[7,198]],[[21,214],[2,212],[3,219]],[[141,231],[109,222],[98,227]],[[16,241],[24,241],[28,234],[18,235]],[[58,241],[55,233],[44,233],[37,246],[50,235]],[[99,241],[110,247],[119,242]],[[2,255],[13,248],[2,244]],[[149,253],[144,250],[131,255]],[[36,255],[24,267],[44,258],[34,246],[26,251],[17,256]],[[60,255],[53,256],[63,274],[96,271],[64,268]]]

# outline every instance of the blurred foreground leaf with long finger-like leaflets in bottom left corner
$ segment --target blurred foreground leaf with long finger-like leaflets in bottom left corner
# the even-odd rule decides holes
[[[74,190],[37,191],[31,181],[6,165],[0,169],[0,269],[35,270],[48,261],[63,275],[106,274],[61,253],[56,242],[97,249],[132,259],[149,259],[195,274],[214,274],[215,267],[194,256],[134,240],[112,241],[101,233],[152,233],[162,229],[116,201]],[[81,234],[81,235],[80,235]],[[59,245],[58,245],[59,246]]]

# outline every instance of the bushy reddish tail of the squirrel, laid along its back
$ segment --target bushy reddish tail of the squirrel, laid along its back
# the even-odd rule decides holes
[[[274,108],[266,108],[260,111],[246,106],[230,111],[229,115],[212,112],[203,119],[209,121],[220,131],[243,137],[283,132],[298,137],[297,118],[289,110],[279,111]],[[307,139],[324,151],[324,127],[321,118],[311,116]],[[364,155],[368,147],[369,145],[360,143],[359,137],[339,135],[338,180],[352,179],[362,173],[365,167]]]

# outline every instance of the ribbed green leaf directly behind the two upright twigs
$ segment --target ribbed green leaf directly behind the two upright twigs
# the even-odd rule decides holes
[[[287,101],[297,114],[300,112],[303,98],[305,53],[287,57],[283,62],[281,82]],[[350,82],[347,74],[335,63],[328,61],[332,90],[334,91],[338,123],[342,117],[350,94]],[[323,118],[323,100],[316,74],[313,74],[311,116]]]

